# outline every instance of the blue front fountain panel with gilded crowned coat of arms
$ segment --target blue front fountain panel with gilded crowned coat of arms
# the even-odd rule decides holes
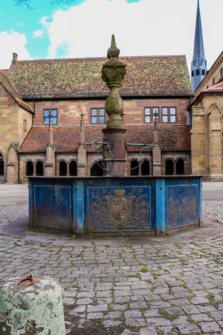
[[[150,187],[88,188],[88,231],[148,231]]]

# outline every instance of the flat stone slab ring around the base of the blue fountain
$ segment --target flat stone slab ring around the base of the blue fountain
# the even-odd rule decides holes
[[[199,241],[207,237],[213,236],[223,232],[223,224],[208,217],[203,216],[202,227],[193,228],[187,231],[174,233],[165,237],[148,237],[148,238],[105,238],[105,239],[76,239],[70,240],[68,237],[45,234],[36,231],[28,230],[28,217],[22,216],[21,218],[10,222],[0,229],[0,234],[6,234],[26,240],[33,240],[36,242],[49,243],[56,246],[132,246],[132,245],[143,245],[143,244],[170,244],[170,243],[188,243],[189,241]],[[211,225],[211,227],[209,227]],[[213,226],[215,230],[213,230]],[[183,256],[182,256],[183,257]],[[135,261],[135,259],[134,259]],[[107,260],[102,260],[101,263],[106,263]],[[115,260],[119,262],[119,259]],[[160,260],[163,262],[163,260]],[[135,265],[135,262],[128,262],[127,265]]]

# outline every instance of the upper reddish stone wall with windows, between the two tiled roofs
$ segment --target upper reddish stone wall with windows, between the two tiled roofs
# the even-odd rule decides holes
[[[123,100],[126,125],[145,124],[145,108],[150,107],[151,113],[153,107],[159,109],[159,123],[162,124],[162,107],[176,107],[176,123],[187,124],[187,105],[190,100],[182,99],[129,99]],[[33,108],[33,103],[29,103]],[[105,100],[80,100],[80,101],[52,101],[52,102],[35,102],[35,116],[33,126],[43,126],[44,109],[57,109],[57,126],[79,126],[80,125],[80,107],[85,105],[85,125],[91,125],[91,109],[105,108]],[[108,116],[105,113],[105,124]],[[152,121],[152,117],[151,117]],[[166,124],[166,123],[165,123]],[[45,125],[47,127],[47,125]]]

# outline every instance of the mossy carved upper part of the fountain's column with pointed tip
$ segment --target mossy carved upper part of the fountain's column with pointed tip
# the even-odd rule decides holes
[[[111,47],[108,49],[107,57],[109,61],[103,65],[102,80],[110,89],[105,102],[105,112],[109,116],[106,122],[107,128],[122,128],[123,122],[120,115],[123,112],[123,101],[119,95],[118,89],[126,74],[126,64],[118,61],[120,50],[116,48],[115,36],[112,35]]]

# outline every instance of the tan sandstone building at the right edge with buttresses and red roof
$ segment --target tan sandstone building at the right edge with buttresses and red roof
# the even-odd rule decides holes
[[[223,52],[195,91],[191,105],[192,173],[223,179]]]

